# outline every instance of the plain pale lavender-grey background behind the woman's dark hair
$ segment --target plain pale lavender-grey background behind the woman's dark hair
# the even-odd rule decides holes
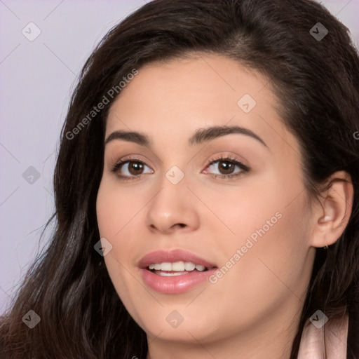
[[[102,36],[145,2],[0,0],[0,313],[50,236],[39,242],[54,210],[58,137],[76,76]],[[358,44],[359,0],[321,2]],[[29,22],[41,30],[34,41],[22,34],[34,34]],[[39,179],[22,177],[30,166]]]

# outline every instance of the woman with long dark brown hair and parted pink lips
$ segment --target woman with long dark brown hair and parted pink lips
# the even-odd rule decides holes
[[[359,358],[358,69],[309,0],[156,0],[111,29],[2,357]]]

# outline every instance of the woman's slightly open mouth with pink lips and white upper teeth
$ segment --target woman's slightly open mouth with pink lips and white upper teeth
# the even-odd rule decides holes
[[[160,250],[139,262],[144,283],[156,292],[178,294],[203,283],[218,268],[184,250]]]

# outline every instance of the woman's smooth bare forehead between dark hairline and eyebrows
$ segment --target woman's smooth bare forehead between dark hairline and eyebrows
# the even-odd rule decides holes
[[[107,136],[123,129],[174,140],[197,128],[228,125],[248,128],[272,146],[278,139],[284,147],[295,142],[280,121],[268,79],[235,60],[203,54],[138,71],[109,110]]]

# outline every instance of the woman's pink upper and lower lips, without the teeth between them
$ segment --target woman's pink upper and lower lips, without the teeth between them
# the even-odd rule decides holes
[[[180,261],[201,264],[208,268],[208,271],[200,272],[195,270],[181,276],[164,277],[159,276],[158,274],[155,274],[147,269],[149,264],[152,263]],[[156,290],[156,292],[166,294],[187,292],[199,283],[203,283],[217,270],[215,264],[212,264],[205,259],[202,259],[193,253],[184,250],[158,250],[156,252],[151,252],[140,260],[138,266],[141,269],[144,283],[146,283],[151,289]]]

